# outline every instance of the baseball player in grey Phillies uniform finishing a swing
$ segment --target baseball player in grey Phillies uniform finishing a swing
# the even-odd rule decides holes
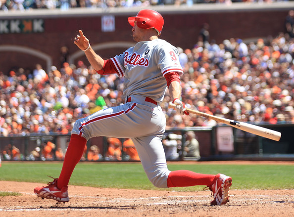
[[[180,100],[178,50],[158,38],[163,17],[150,9],[140,10],[129,17],[135,46],[120,55],[103,60],[92,49],[82,30],[74,43],[85,52],[89,62],[100,75],[117,74],[124,77],[125,104],[100,110],[75,122],[66,151],[61,173],[45,187],[36,187],[41,198],[68,202],[68,183],[80,161],[88,139],[94,136],[131,138],[138,151],[143,168],[151,183],[159,188],[204,185],[213,193],[211,205],[226,204],[232,178],[224,174],[197,174],[192,171],[169,171],[161,138],[166,119],[159,103],[168,88],[176,104],[176,112],[188,115],[185,103]]]

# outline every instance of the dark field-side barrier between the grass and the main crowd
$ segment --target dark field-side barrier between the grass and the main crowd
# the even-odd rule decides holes
[[[294,160],[293,131],[294,124],[260,125],[271,130],[280,131],[280,141],[263,138],[242,130],[225,125],[215,127],[192,127],[185,129],[166,130],[169,133],[182,135],[177,151],[179,158],[176,161],[212,161],[212,160]],[[186,157],[184,145],[186,132],[194,131],[199,142],[200,158]],[[34,133],[29,135],[0,136],[0,157],[2,161],[62,161],[56,151],[66,152],[70,139],[69,134],[60,133]],[[121,138],[123,143],[125,139]],[[49,145],[50,148],[47,147]],[[53,144],[53,145],[52,145]],[[91,146],[97,146],[99,159],[97,161],[118,161],[107,157],[106,137],[94,137],[88,140],[87,149],[82,161],[88,161],[88,152]],[[18,150],[17,156],[12,156],[12,149]],[[121,148],[122,149],[122,148]],[[50,151],[50,152],[49,152]],[[39,153],[36,154],[36,152]],[[15,152],[14,152],[15,153]],[[121,161],[132,161],[122,149]]]

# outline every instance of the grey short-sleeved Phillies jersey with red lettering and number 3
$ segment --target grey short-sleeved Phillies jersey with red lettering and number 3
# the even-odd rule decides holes
[[[178,49],[170,43],[156,39],[139,42],[124,53],[111,58],[119,77],[125,76],[124,95],[147,96],[157,102],[163,100],[169,72],[183,75]]]

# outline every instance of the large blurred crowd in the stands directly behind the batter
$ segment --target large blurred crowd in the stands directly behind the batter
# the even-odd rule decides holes
[[[178,47],[187,107],[233,120],[294,123],[294,39],[276,38],[244,43],[241,39],[198,42]],[[68,133],[75,120],[102,108],[124,103],[123,78],[101,76],[86,63],[63,63],[46,72],[40,64],[31,73],[20,68],[0,72],[0,135],[34,132]],[[180,116],[162,102],[167,129],[215,126],[205,118]]]

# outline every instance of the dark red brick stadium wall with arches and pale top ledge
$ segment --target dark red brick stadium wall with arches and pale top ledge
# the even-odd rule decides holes
[[[203,23],[210,25],[210,39],[216,40],[217,43],[230,38],[275,37],[279,32],[285,31],[285,18],[288,11],[294,8],[294,2],[277,4],[278,6],[274,4],[254,5],[253,7],[248,4],[230,7],[212,4],[199,6],[196,4],[190,8],[165,6],[154,9],[159,11],[165,20],[160,38],[175,46],[193,48]],[[17,49],[13,51],[1,50],[1,46],[20,46],[42,52],[49,55],[52,60],[51,65],[60,68],[61,46],[68,47],[69,55],[79,51],[73,43],[79,29],[82,29],[90,39],[92,46],[112,42],[133,43],[131,26],[127,22],[127,17],[136,15],[138,10],[139,8],[128,10],[124,8],[110,10],[110,12],[99,12],[98,10],[77,9],[71,12],[60,10],[40,12],[41,10],[39,10],[37,13],[0,13],[0,22],[3,20],[9,22],[15,19],[44,20],[44,32],[41,33],[0,34],[0,71],[8,74],[10,70],[22,67],[28,69],[27,73],[29,73],[37,63],[41,63],[44,69],[49,69],[48,63],[39,56],[19,52]],[[115,16],[114,32],[101,32],[101,16],[105,14]],[[109,58],[124,50],[124,47],[103,48],[98,50],[98,53],[103,58]],[[78,60],[87,62],[85,56],[75,59],[74,63],[76,64]]]

